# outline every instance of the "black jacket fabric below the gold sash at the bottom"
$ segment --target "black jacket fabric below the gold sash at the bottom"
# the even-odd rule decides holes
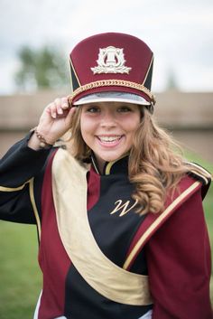
[[[138,319],[152,307],[113,302],[88,286],[74,266],[69,268],[64,311],[67,319]]]

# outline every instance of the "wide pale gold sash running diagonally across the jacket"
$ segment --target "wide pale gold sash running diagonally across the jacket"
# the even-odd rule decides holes
[[[99,249],[88,222],[86,175],[87,168],[67,151],[58,150],[52,163],[52,191],[64,249],[100,295],[125,305],[152,304],[148,277],[118,267]]]

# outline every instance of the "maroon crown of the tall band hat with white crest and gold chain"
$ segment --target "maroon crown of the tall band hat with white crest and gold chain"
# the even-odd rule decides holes
[[[90,36],[79,42],[69,57],[73,91],[70,102],[96,92],[118,91],[139,95],[154,104],[153,52],[133,35]]]

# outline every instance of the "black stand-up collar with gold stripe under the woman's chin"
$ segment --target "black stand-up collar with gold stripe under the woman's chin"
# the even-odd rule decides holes
[[[97,159],[94,154],[91,155],[92,167],[96,171],[97,174],[100,175],[110,175],[110,174],[128,174],[128,154],[125,154],[116,161],[106,162],[103,170],[103,174],[99,172],[97,166]]]

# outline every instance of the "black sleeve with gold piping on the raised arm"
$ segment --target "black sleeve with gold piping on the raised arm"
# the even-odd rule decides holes
[[[1,220],[35,224],[35,205],[41,211],[42,175],[51,149],[32,150],[27,146],[30,136],[12,146],[0,161]]]

